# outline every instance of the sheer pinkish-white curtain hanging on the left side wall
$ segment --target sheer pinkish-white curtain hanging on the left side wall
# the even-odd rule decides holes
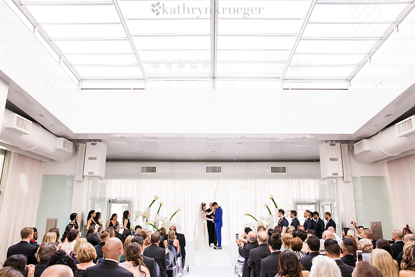
[[[21,241],[21,229],[36,225],[42,162],[11,152],[9,166],[3,174],[6,175],[2,179],[1,192],[4,193],[0,211],[3,223],[3,228],[0,228],[1,262],[6,259],[8,247]]]

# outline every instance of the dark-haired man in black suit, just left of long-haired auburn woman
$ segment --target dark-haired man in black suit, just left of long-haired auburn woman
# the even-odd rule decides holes
[[[268,238],[270,256],[261,260],[260,277],[274,277],[278,274],[278,261],[281,254],[282,241],[279,234],[272,234]]]

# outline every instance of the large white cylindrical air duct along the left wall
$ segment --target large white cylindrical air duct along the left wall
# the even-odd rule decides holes
[[[36,122],[5,109],[0,139],[22,150],[66,163],[75,158],[75,145],[52,134]]]

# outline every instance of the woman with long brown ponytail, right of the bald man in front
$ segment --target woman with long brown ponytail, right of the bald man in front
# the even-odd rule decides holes
[[[145,267],[141,256],[141,246],[137,242],[132,242],[125,251],[126,261],[118,265],[131,272],[134,277],[150,277],[148,269]]]

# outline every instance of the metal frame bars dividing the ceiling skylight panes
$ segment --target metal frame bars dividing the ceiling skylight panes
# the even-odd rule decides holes
[[[197,80],[204,80],[209,81],[210,88],[216,87],[216,80],[221,81],[238,81],[238,80],[255,80],[255,81],[279,81],[281,88],[287,88],[284,83],[319,83],[319,82],[329,82],[329,83],[346,83],[350,85],[350,81],[353,77],[357,74],[357,72],[366,64],[368,61],[370,62],[370,58],[373,53],[380,47],[380,45],[394,32],[397,31],[398,24],[411,12],[411,10],[415,6],[415,0],[306,0],[306,2],[310,2],[310,7],[308,9],[307,14],[304,15],[304,18],[227,18],[227,17],[219,17],[216,13],[211,13],[210,18],[201,18],[199,20],[209,20],[210,21],[210,33],[131,33],[128,29],[128,21],[163,21],[163,20],[172,20],[172,19],[165,19],[165,18],[125,18],[123,16],[122,8],[119,5],[119,1],[145,1],[145,0],[112,0],[112,1],[20,1],[20,0],[12,0],[15,5],[19,8],[21,13],[24,17],[30,21],[33,25],[33,33],[35,35],[40,35],[47,45],[50,47],[49,52],[51,54],[55,53],[57,55],[57,62],[62,66],[62,68],[70,75],[72,80],[74,80],[77,85],[82,88],[83,82],[87,83],[131,83],[131,88],[134,87],[134,83],[146,83],[146,81],[197,81]],[[149,1],[148,1],[149,2]],[[204,1],[207,2],[207,1]],[[219,7],[220,0],[209,0],[210,8],[215,10],[216,7]],[[304,2],[304,1],[303,1]],[[400,13],[400,15],[394,21],[386,20],[386,21],[310,21],[313,9],[316,5],[376,5],[376,4],[406,4],[407,6],[405,9]],[[83,7],[83,6],[113,6],[116,10],[119,20],[115,22],[37,22],[35,18],[30,14],[30,6],[75,6],[75,7]],[[28,7],[28,8],[27,8]],[[173,20],[194,20],[192,18],[180,18],[180,19],[173,19]],[[298,33],[220,33],[218,32],[218,24],[221,20],[272,20],[272,21],[302,21],[302,25]],[[48,34],[43,30],[42,25],[100,25],[100,24],[108,24],[108,25],[122,25],[125,31],[125,37],[98,37],[98,38],[65,38],[65,37],[54,37],[50,38]],[[303,36],[304,31],[306,30],[308,25],[311,24],[390,24],[389,28],[387,28],[386,32],[383,33],[381,37],[305,37]],[[180,31],[180,30],[179,30]],[[39,36],[37,36],[39,39]],[[136,47],[134,43],[134,38],[167,38],[167,37],[189,37],[189,38],[202,38],[202,37],[209,37],[210,45],[209,49],[140,49]],[[276,37],[276,38],[295,38],[295,42],[291,48],[282,48],[278,49],[225,49],[225,48],[218,48],[218,40],[221,37],[247,37],[252,40],[255,40],[256,37]],[[88,52],[71,52],[71,51],[64,51],[62,52],[59,47],[55,44],[55,42],[117,42],[123,41],[128,42],[131,46],[132,53],[88,53]],[[356,41],[368,41],[374,42],[374,45],[369,49],[369,51],[360,51],[360,52],[338,52],[338,53],[316,53],[315,51],[297,51],[297,47],[300,42],[304,41],[327,41],[327,42],[356,42]],[[43,45],[45,45],[43,43]],[[177,52],[180,53],[185,51],[209,51],[209,60],[142,60],[140,55],[145,55],[146,52],[157,52],[157,51],[170,51],[170,52]],[[220,56],[218,51],[278,51],[278,52],[286,52],[289,53],[287,60],[223,60],[218,59]],[[162,53],[162,52],[160,52]],[[133,54],[137,64],[71,64],[66,55],[131,55]],[[302,63],[295,63],[293,62],[294,55],[362,55],[363,59],[359,63],[354,64],[302,64]],[[158,73],[153,74],[152,72],[147,72],[145,69],[145,64],[152,64],[152,63],[210,63],[210,71],[205,73],[192,73],[192,72],[174,72],[169,74],[166,73]],[[218,76],[218,64],[281,64],[284,65],[281,74],[279,75],[271,75],[270,74],[261,74],[261,73],[253,73],[253,72],[246,72],[246,73],[221,73]],[[80,75],[76,68],[81,67],[136,67],[140,68],[142,72],[142,76],[106,76],[106,77],[93,77],[93,76],[86,76]],[[304,67],[304,68],[311,68],[311,67],[354,67],[351,74],[349,76],[289,76],[287,77],[287,72],[292,67]],[[206,74],[208,73],[208,74]],[[73,76],[71,76],[73,75]],[[146,85],[145,85],[146,87]]]

